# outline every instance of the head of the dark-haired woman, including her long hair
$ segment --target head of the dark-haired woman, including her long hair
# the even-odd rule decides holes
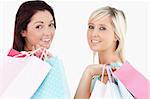
[[[55,16],[49,5],[44,1],[25,2],[16,14],[13,48],[18,51],[49,48],[55,29]]]

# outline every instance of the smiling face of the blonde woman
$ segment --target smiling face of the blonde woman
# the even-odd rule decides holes
[[[115,50],[116,38],[111,22],[111,17],[109,16],[89,21],[87,39],[93,51]]]

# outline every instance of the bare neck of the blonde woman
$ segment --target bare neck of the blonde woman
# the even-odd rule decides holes
[[[117,61],[121,62],[119,56],[112,51],[99,52],[98,56],[100,64],[111,64]]]

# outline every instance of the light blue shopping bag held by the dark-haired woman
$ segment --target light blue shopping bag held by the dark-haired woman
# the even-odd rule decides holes
[[[70,99],[62,62],[58,57],[45,58],[52,68],[31,99]]]

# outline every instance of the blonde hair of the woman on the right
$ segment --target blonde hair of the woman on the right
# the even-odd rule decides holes
[[[124,12],[110,6],[102,7],[95,10],[90,18],[89,22],[93,19],[101,19],[105,16],[110,16],[112,19],[112,25],[114,27],[115,37],[117,38],[117,46],[115,53],[117,53],[122,62],[125,61],[124,56],[124,36],[126,33],[126,17]]]

